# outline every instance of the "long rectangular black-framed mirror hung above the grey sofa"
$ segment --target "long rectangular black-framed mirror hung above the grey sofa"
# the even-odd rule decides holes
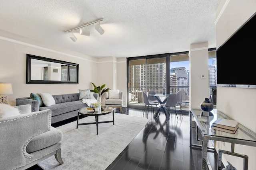
[[[26,54],[26,84],[78,84],[79,64]]]

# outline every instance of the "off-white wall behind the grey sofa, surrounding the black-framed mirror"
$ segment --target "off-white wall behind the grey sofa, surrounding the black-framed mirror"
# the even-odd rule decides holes
[[[16,98],[29,97],[31,92],[55,95],[78,93],[79,89],[92,89],[90,82],[98,80],[98,70],[95,69],[98,61],[65,49],[56,48],[61,52],[54,50],[47,45],[0,30],[0,82],[11,82],[13,90],[13,94],[8,95],[8,104],[15,106]],[[78,63],[79,84],[26,84],[26,54]]]

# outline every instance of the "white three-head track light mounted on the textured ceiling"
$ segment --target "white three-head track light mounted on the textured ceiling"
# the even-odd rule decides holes
[[[64,32],[65,33],[68,33],[68,36],[70,37],[70,39],[72,39],[72,41],[76,42],[76,36],[74,35],[74,30],[76,29],[80,29],[80,34],[81,35],[86,35],[86,36],[90,36],[90,31],[86,29],[86,27],[88,25],[91,25],[91,24],[94,24],[94,23],[98,23],[95,25],[95,29],[100,33],[100,35],[102,35],[105,31],[104,29],[100,26],[100,21],[103,21],[103,18],[100,18],[98,20],[94,20],[94,21],[91,21],[91,22],[88,22],[84,25],[81,25],[79,27],[75,27],[73,29],[70,29],[70,30],[65,30]]]

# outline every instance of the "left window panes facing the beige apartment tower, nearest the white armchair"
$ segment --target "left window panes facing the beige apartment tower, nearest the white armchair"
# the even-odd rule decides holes
[[[169,80],[166,80],[168,55],[132,57],[128,59],[128,106],[144,104],[142,92],[150,90],[166,93]]]

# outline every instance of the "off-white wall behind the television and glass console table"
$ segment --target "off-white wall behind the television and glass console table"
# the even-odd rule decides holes
[[[245,21],[256,12],[255,0],[228,0],[219,6],[216,22],[216,48],[220,47]],[[224,7],[224,8],[222,8]],[[253,49],[255,50],[255,49]],[[217,70],[218,71],[218,70]],[[256,89],[217,87],[217,109],[256,133]],[[217,143],[217,147],[230,151],[230,144]],[[235,152],[249,156],[249,170],[256,167],[256,147],[235,145]],[[237,169],[241,159],[225,156]]]

